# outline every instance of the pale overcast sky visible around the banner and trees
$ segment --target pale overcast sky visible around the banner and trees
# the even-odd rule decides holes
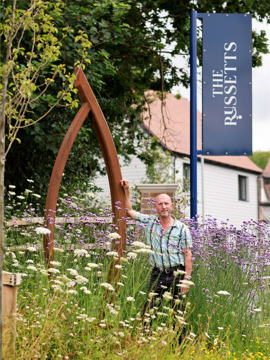
[[[252,30],[265,30],[267,39],[270,39],[270,24],[257,22],[252,19]],[[269,45],[269,41],[268,41]],[[186,62],[182,56],[176,55],[173,64],[184,67]],[[198,68],[198,71],[200,69]],[[200,79],[200,77],[198,77]],[[202,110],[201,84],[198,83],[197,107]],[[181,94],[189,99],[189,89],[175,86],[173,94]],[[252,143],[253,151],[270,150],[270,55],[262,57],[262,66],[252,68]]]

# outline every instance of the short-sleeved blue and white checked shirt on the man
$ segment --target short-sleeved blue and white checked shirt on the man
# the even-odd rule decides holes
[[[188,227],[173,215],[174,223],[163,232],[159,216],[136,212],[136,225],[142,224],[146,243],[154,253],[149,254],[149,263],[153,267],[174,267],[185,265],[182,249],[192,248],[192,238]]]

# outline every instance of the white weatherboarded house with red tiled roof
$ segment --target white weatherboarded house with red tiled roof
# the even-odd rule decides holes
[[[189,176],[189,101],[166,94],[163,114],[161,101],[150,104],[151,119],[145,117],[144,129],[159,139],[161,146],[172,155],[175,182]],[[197,111],[197,149],[201,149],[201,113]],[[211,215],[218,222],[226,221],[241,228],[243,221],[257,220],[258,177],[262,169],[246,156],[204,156],[197,158],[197,198],[200,215]],[[121,163],[121,161],[120,161]],[[203,163],[203,166],[202,166]],[[203,183],[202,183],[203,170]],[[123,178],[131,184],[146,179],[146,166],[133,156],[128,166],[122,166]],[[109,193],[107,176],[100,176],[96,184]],[[202,185],[203,184],[203,185]],[[202,196],[203,188],[203,196]]]

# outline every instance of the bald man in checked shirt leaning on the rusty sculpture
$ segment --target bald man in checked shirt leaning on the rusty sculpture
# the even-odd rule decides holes
[[[150,310],[155,308],[156,299],[162,300],[165,292],[171,292],[173,301],[177,300],[174,310],[183,311],[182,295],[188,293],[189,285],[182,285],[181,280],[190,280],[192,271],[192,239],[189,229],[171,215],[173,204],[169,195],[159,194],[156,197],[155,209],[158,216],[141,214],[132,210],[129,181],[123,179],[121,185],[125,191],[127,214],[137,225],[144,225],[147,245],[154,252],[149,255],[149,263],[152,266],[149,292],[158,295],[152,296],[150,303],[147,301],[144,314],[152,312]],[[174,271],[177,270],[182,272],[181,276],[175,276]],[[177,286],[179,284],[182,287]],[[179,298],[182,301],[179,302]]]

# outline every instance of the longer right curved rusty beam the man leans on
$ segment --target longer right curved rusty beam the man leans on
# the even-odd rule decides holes
[[[114,141],[111,136],[110,129],[107,125],[105,117],[100,109],[100,106],[93,94],[93,91],[88,84],[88,81],[81,68],[75,67],[74,73],[76,75],[75,87],[78,89],[79,97],[82,103],[88,103],[91,107],[90,118],[93,128],[97,134],[97,138],[100,143],[102,154],[104,157],[106,170],[108,174],[110,192],[111,192],[111,206],[115,217],[113,223],[116,225],[115,232],[119,233],[121,239],[119,242],[115,242],[114,249],[119,253],[119,257],[123,256],[123,250],[125,250],[125,238],[126,238],[126,223],[122,219],[125,216],[125,197],[124,191],[120,184],[122,180],[122,172],[119,164],[118,155],[115,149]],[[120,209],[115,207],[116,202],[120,202]],[[120,221],[118,221],[120,220]],[[114,261],[111,262],[111,267],[108,275],[108,282],[112,283],[118,278],[118,271],[114,267]]]

